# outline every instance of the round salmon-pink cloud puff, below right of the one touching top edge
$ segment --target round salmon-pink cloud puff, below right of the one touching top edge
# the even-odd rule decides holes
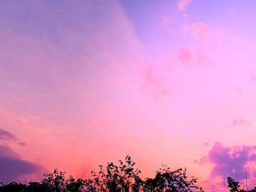
[[[207,41],[210,37],[210,28],[205,23],[193,23],[192,24],[193,36],[195,39],[201,41]]]

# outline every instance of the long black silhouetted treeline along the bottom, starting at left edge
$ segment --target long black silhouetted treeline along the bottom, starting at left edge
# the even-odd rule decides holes
[[[140,178],[140,173],[127,155],[125,161],[118,161],[118,165],[108,163],[105,169],[99,165],[99,172],[91,172],[92,179],[66,178],[65,172],[55,169],[53,173],[43,174],[41,182],[30,182],[29,185],[0,183],[0,192],[203,192],[196,185],[195,177],[188,179],[187,169],[170,171],[169,167],[163,166],[154,178],[146,180]]]

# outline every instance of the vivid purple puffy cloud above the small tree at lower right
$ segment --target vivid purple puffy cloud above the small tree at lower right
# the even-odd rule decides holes
[[[247,163],[256,161],[253,153],[255,146],[233,146],[225,147],[216,142],[208,152],[208,159],[214,164],[211,169],[211,177],[233,177],[235,180],[243,180],[245,172],[248,172]]]

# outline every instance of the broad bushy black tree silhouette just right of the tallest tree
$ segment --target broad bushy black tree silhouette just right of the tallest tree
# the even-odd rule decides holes
[[[158,191],[158,192],[194,192],[203,191],[202,188],[196,185],[197,179],[192,177],[188,180],[187,169],[176,169],[170,171],[169,167],[162,166],[157,171],[154,179],[148,178],[144,182],[143,191]]]

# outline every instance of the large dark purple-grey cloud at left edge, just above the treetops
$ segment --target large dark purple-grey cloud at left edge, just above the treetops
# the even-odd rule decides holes
[[[9,183],[38,180],[45,168],[22,160],[7,145],[0,145],[0,181]]]

